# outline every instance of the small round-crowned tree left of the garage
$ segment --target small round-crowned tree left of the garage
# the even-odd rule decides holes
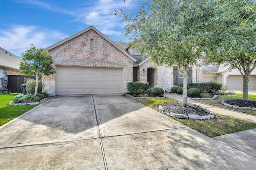
[[[35,94],[38,91],[38,77],[42,74],[48,76],[54,74],[54,63],[50,53],[44,48],[37,49],[31,44],[30,49],[21,54],[20,72],[27,75],[36,75]]]

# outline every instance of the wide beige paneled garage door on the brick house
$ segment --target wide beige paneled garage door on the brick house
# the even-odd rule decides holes
[[[122,69],[57,66],[56,94],[122,94]]]

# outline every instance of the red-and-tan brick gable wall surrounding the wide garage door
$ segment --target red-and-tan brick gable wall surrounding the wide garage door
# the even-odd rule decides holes
[[[92,39],[93,50],[91,50],[90,46]],[[124,84],[132,81],[133,60],[93,29],[50,49],[48,52],[51,53],[54,64],[56,65],[123,68]],[[54,75],[42,76],[42,80],[45,81],[46,86],[48,84],[51,86],[51,90],[55,90],[55,87],[53,87],[55,86]],[[46,88],[44,89],[50,95],[55,95],[54,90],[49,92]],[[125,91],[126,86],[124,86]]]

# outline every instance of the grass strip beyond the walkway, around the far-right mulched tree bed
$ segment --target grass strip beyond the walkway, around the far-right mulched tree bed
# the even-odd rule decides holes
[[[248,113],[248,114],[251,114],[251,115],[256,115],[256,111],[235,109],[235,108],[227,107],[227,106],[224,106],[223,104],[220,104],[220,102],[222,100],[243,99],[243,94],[236,93],[235,95],[236,96],[218,96],[218,98],[216,98],[215,100],[196,100],[196,101],[206,103],[206,104],[210,104],[210,105],[213,105],[213,106],[222,107],[222,108],[225,108],[225,109],[230,109],[230,110],[234,110],[234,111],[240,111],[240,112],[243,112],[243,113]],[[249,94],[248,99],[252,100],[252,101],[256,101],[256,96],[252,95],[252,94]]]

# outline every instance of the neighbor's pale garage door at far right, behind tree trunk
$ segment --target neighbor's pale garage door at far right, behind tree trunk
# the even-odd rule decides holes
[[[228,76],[228,90],[243,90],[242,76]],[[250,76],[248,90],[256,90],[256,76]]]

